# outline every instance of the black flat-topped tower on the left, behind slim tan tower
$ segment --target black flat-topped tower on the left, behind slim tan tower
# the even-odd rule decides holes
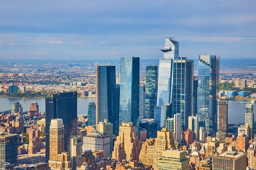
[[[67,151],[68,137],[77,135],[77,93],[49,93],[45,97],[46,147],[45,160],[49,160],[49,127],[51,119],[63,119],[64,150]]]

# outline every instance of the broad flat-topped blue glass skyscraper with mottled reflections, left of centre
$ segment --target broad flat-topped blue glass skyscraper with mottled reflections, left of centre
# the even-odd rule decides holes
[[[139,57],[121,57],[119,126],[122,122],[132,122],[136,126],[138,117]]]

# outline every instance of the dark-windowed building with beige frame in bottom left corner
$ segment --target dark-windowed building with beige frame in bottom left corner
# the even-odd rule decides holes
[[[0,133],[0,169],[13,169],[17,165],[17,141],[19,135]]]

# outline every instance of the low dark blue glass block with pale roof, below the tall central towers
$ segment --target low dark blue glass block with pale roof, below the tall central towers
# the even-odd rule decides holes
[[[143,119],[139,123],[139,127],[147,130],[147,139],[157,137],[157,122],[154,119]]]

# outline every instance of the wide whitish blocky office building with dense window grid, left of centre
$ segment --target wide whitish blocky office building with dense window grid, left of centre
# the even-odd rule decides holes
[[[110,157],[110,137],[106,132],[97,132],[92,130],[89,134],[83,137],[83,150],[103,150],[103,158]]]

